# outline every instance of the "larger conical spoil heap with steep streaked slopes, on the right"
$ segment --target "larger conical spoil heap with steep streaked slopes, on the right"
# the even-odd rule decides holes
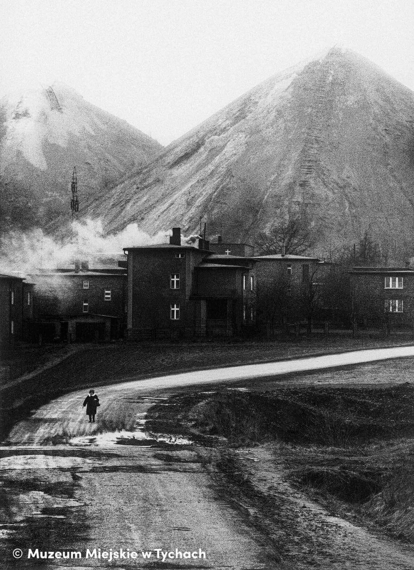
[[[368,226],[383,240],[412,230],[414,93],[373,63],[335,47],[274,75],[171,143],[86,213],[106,231],[254,239],[286,207],[305,204],[321,241]]]

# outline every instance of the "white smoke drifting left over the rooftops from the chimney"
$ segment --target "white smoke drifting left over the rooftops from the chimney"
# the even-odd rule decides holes
[[[0,272],[26,276],[39,270],[73,266],[75,260],[99,262],[108,255],[122,255],[122,248],[168,242],[168,231],[151,236],[131,223],[117,234],[104,235],[100,219],[72,222],[73,238],[56,241],[36,228],[2,236]]]

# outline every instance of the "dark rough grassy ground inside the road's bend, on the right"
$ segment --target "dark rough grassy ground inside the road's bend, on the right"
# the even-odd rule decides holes
[[[405,363],[409,377],[412,367],[407,364],[412,363]],[[400,362],[390,366],[403,368]],[[354,379],[366,368],[368,374],[370,368],[378,376],[390,373],[388,363],[376,363],[336,374]],[[323,381],[332,374],[304,376]],[[268,477],[269,485],[272,479],[280,485],[274,481],[278,474],[330,514],[414,542],[414,383],[378,388],[291,382],[292,387],[286,381],[263,391],[259,384],[178,394],[167,412],[164,408],[158,414],[157,406],[151,410],[149,425],[210,448],[212,473],[223,479],[223,493],[232,490],[232,500],[238,494],[240,504],[253,499],[261,504],[261,522],[272,504],[254,479],[263,483]],[[262,461],[255,459],[263,454],[261,472]],[[250,461],[243,461],[246,457]]]

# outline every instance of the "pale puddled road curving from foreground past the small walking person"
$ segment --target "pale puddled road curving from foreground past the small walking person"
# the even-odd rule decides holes
[[[177,547],[195,551],[202,548],[207,552],[205,561],[191,560],[191,565],[188,560],[171,563],[191,568],[276,568],[273,552],[259,532],[220,502],[191,446],[160,447],[161,443],[145,441],[147,408],[154,404],[154,399],[162,401],[169,390],[177,387],[236,382],[409,356],[414,356],[412,346],[372,349],[104,386],[96,388],[102,401],[97,424],[88,424],[82,408],[87,391],[73,392],[42,406],[28,420],[14,427],[9,446],[2,448],[3,454],[7,451],[9,457],[0,459],[0,473],[10,478],[13,466],[21,470],[23,478],[54,481],[54,477],[58,477],[56,481],[60,481],[62,473],[72,470],[77,481],[75,499],[86,510],[79,516],[85,516],[86,512],[88,519],[86,538],[77,535],[71,538],[70,533],[67,534],[72,547],[77,549]],[[167,400],[165,405],[168,405]],[[129,444],[139,445],[114,446],[113,435],[99,435],[102,431],[113,433],[120,429],[124,431],[118,436]],[[51,475],[51,471],[56,475]],[[30,503],[34,499],[31,495],[31,499],[26,497],[25,500]],[[38,495],[36,501],[39,501]],[[62,507],[62,501],[59,504]],[[34,508],[39,512],[38,503]],[[69,515],[66,516],[69,520]],[[384,569],[393,568],[388,562],[384,561]],[[84,564],[83,561],[76,563]],[[135,564],[146,565],[147,562],[141,559]],[[88,561],[88,566],[91,565],[102,563]]]

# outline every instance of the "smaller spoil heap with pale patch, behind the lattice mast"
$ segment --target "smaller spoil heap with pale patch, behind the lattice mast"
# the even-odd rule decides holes
[[[64,84],[6,95],[0,99],[2,227],[44,227],[70,212],[75,165],[82,207],[161,150],[157,141]]]

